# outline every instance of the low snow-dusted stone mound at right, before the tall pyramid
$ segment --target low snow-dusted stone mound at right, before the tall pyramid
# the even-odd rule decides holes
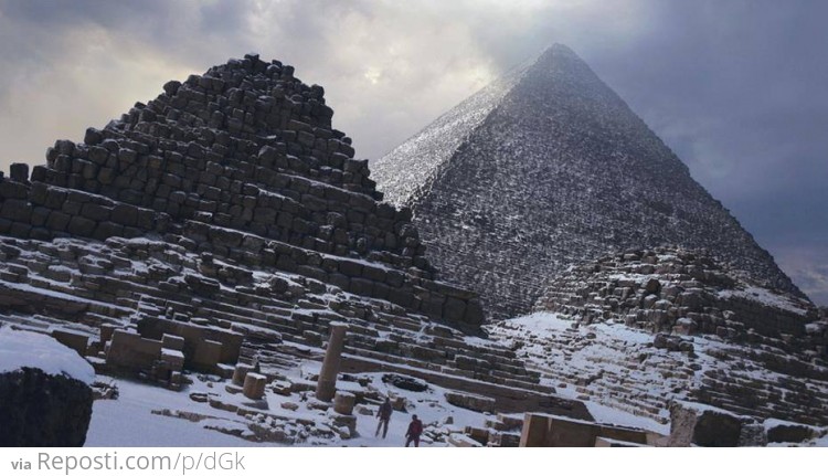
[[[819,410],[828,409],[828,321],[810,302],[703,252],[630,250],[573,267],[535,311],[571,326],[540,337],[505,321],[491,337],[578,398],[662,423],[684,400],[757,421],[828,424]],[[625,338],[624,328],[651,337]]]

